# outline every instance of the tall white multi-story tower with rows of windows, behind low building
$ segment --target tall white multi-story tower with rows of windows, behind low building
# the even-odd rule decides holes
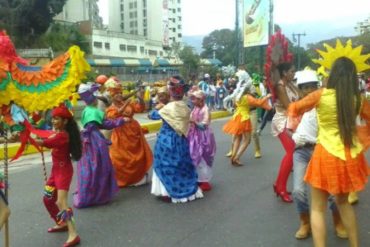
[[[110,0],[109,30],[161,41],[182,42],[181,0]]]

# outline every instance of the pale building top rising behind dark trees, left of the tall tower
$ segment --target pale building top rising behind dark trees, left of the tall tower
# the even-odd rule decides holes
[[[65,22],[91,21],[92,28],[103,28],[103,19],[99,16],[98,0],[69,0],[63,11],[54,20]]]

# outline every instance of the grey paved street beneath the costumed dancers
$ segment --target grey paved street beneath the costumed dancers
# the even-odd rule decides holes
[[[212,124],[218,145],[214,188],[203,199],[177,205],[156,199],[149,185],[122,189],[108,205],[75,210],[81,246],[312,246],[311,238],[294,238],[299,224],[295,205],[283,203],[272,192],[282,148],[269,126],[261,136],[263,157],[253,158],[252,144],[242,158],[246,165],[232,167],[224,157],[231,140],[221,131],[225,121]],[[155,135],[148,139],[153,147]],[[10,173],[11,246],[61,246],[67,235],[46,231],[53,222],[42,204],[39,156],[23,158],[16,166]],[[370,246],[369,188],[360,194],[356,211],[361,246]],[[331,217],[328,224],[328,246],[348,246],[335,236]],[[2,246],[3,234],[0,241]]]

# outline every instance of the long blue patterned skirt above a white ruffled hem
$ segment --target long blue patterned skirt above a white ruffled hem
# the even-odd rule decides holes
[[[181,199],[198,190],[198,176],[190,157],[188,140],[163,121],[154,147],[154,170],[168,194]]]

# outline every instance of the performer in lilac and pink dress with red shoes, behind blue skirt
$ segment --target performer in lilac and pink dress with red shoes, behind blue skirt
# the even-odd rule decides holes
[[[198,173],[198,184],[203,191],[211,190],[212,166],[216,155],[216,141],[210,127],[211,113],[205,104],[202,90],[190,92],[194,105],[190,113],[188,133],[190,156]]]

